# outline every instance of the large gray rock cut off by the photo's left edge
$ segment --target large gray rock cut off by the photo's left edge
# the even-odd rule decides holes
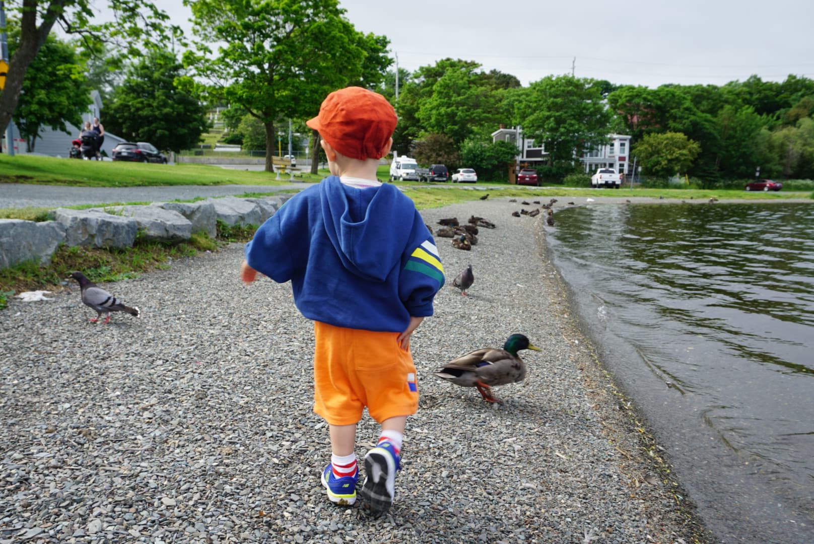
[[[24,261],[50,262],[65,241],[65,227],[58,222],[0,219],[0,268]]]

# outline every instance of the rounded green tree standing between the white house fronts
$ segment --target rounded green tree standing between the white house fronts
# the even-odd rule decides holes
[[[523,133],[544,143],[549,164],[572,164],[586,148],[607,140],[611,114],[591,79],[549,76],[528,87],[515,114]]]

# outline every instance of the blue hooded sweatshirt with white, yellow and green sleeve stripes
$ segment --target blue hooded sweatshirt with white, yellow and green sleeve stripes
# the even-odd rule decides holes
[[[336,327],[401,332],[432,315],[444,267],[412,200],[336,176],[292,197],[246,244],[248,265],[291,280],[297,309]]]

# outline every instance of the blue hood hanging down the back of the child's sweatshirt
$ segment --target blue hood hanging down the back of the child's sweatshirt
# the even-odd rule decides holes
[[[325,230],[344,267],[363,279],[383,282],[400,265],[409,241],[416,213],[406,204],[412,203],[387,183],[357,189],[330,176],[319,188]]]

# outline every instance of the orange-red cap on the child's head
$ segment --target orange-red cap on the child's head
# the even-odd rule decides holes
[[[352,159],[381,159],[396,129],[396,110],[381,94],[347,87],[328,94],[319,115],[306,121],[339,153]]]

